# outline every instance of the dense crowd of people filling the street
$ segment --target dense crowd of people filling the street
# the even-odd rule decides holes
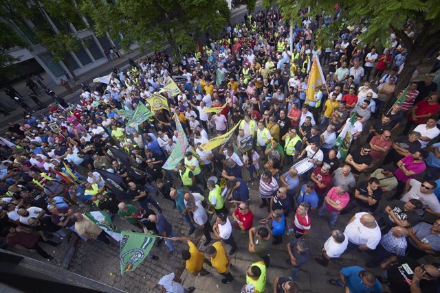
[[[5,244],[45,259],[53,257],[39,243],[56,246],[72,235],[111,244],[78,212],[91,206],[166,237],[170,254],[173,243],[188,244],[180,251],[186,270],[208,277],[212,267],[223,284],[234,281],[234,237],[248,234],[255,256],[245,272],[245,293],[265,291],[270,252],[279,245],[287,248],[284,266],[291,272],[273,280],[273,292],[298,292],[295,281],[305,263],[332,266],[332,259],[356,249],[371,260],[342,268],[329,284],[346,292],[382,292],[381,283],[391,292],[437,292],[437,84],[432,75],[415,78],[404,102],[395,103],[404,43],[391,34],[387,48],[358,44],[366,30],[359,23],[343,27],[332,47],[318,47],[316,28],[330,21],[316,16],[294,27],[290,51],[289,28],[278,12],[246,15],[179,63],[157,53],[127,71],[115,70],[109,84],[83,89],[78,104],[52,106],[47,115],[10,124],[0,146]],[[408,38],[411,32],[408,25]],[[313,58],[326,74],[310,97]],[[172,77],[181,93],[162,92],[169,111],[154,110],[137,128],[127,125],[117,110],[146,103]],[[349,154],[340,159],[334,143],[353,115]],[[234,126],[234,139],[204,148]],[[184,158],[175,169],[162,169],[183,135],[189,142]],[[169,212],[184,218],[188,237],[176,233],[156,196],[173,202]],[[267,215],[254,217],[256,209]],[[338,220],[344,214],[352,215],[349,222]],[[328,219],[329,238],[313,260],[314,218]],[[196,229],[203,233],[204,251],[189,238]],[[153,253],[148,257],[157,261]],[[375,267],[382,276],[373,274]],[[174,278],[162,278],[155,292],[195,290]]]

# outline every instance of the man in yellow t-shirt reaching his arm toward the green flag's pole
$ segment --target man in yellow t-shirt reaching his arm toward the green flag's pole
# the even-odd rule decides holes
[[[203,262],[205,261],[205,256],[203,253],[199,252],[197,247],[188,237],[172,237],[173,241],[186,242],[189,246],[188,250],[181,250],[181,257],[186,261],[186,270],[190,274],[197,276],[200,273],[201,277],[208,277],[211,272],[208,272],[203,268]]]

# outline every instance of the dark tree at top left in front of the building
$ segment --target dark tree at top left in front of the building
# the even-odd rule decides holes
[[[76,30],[86,28],[74,0],[0,0],[0,19],[5,20],[1,22],[3,28],[18,38],[19,43],[14,45],[30,47],[29,42],[25,45],[25,40],[32,38],[52,54],[54,61],[65,61],[70,51],[83,45],[71,30],[71,25]],[[49,19],[56,24],[56,29]],[[29,21],[34,26],[30,26]],[[5,55],[6,59],[10,57]],[[3,62],[0,65],[6,66]]]

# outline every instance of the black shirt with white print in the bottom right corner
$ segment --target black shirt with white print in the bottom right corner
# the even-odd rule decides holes
[[[390,291],[399,293],[410,293],[410,283],[414,276],[414,270],[420,264],[410,257],[397,257],[397,263],[391,265],[388,270],[388,280],[390,281]],[[422,293],[438,292],[438,280],[421,280],[420,289]]]

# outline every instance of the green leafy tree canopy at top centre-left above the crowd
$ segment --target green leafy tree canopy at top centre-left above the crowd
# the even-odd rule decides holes
[[[230,19],[225,0],[84,0],[81,10],[94,22],[98,35],[122,34],[121,45],[130,41],[160,50],[168,42],[173,54],[195,52],[202,32],[217,35]]]

